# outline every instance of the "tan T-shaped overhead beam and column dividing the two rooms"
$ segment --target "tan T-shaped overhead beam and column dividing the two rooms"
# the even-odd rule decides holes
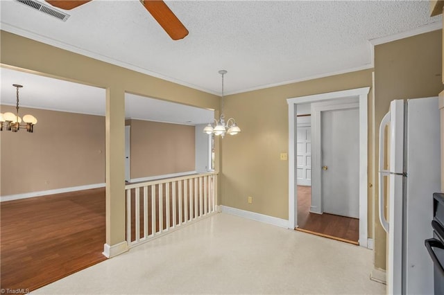
[[[106,244],[125,240],[125,93],[219,109],[218,96],[1,31],[2,66],[106,89]],[[38,57],[38,58],[36,58]],[[217,111],[216,111],[217,114]]]

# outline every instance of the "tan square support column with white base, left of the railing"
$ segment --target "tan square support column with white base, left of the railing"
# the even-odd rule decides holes
[[[128,251],[125,240],[125,91],[106,89],[105,116],[106,244],[112,258]]]

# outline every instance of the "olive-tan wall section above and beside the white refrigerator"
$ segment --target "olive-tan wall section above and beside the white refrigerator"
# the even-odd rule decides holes
[[[375,46],[376,128],[388,111],[391,100],[438,96],[443,90],[441,38],[441,30],[435,30]],[[378,144],[375,138],[376,155]],[[377,170],[374,177],[377,177]],[[376,184],[375,191],[377,189]],[[378,220],[379,215],[375,211],[375,267],[385,269],[385,232]]]

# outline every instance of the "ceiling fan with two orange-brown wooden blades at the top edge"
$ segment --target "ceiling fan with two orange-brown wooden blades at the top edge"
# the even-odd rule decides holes
[[[71,10],[92,0],[46,0],[52,6],[64,10]],[[183,39],[188,35],[188,30],[180,22],[178,17],[169,9],[167,4],[162,0],[139,0],[140,3],[151,13],[155,20],[164,28],[165,32],[173,40]]]

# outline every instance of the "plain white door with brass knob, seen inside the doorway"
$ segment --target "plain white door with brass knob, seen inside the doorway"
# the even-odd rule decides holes
[[[359,109],[321,111],[323,212],[359,218]]]

